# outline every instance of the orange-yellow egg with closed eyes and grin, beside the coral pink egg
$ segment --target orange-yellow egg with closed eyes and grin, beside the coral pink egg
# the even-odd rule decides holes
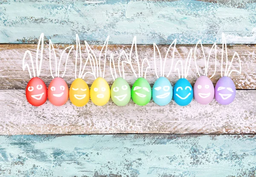
[[[90,99],[90,89],[83,79],[77,78],[73,81],[70,86],[69,97],[75,106],[82,107],[87,104]]]

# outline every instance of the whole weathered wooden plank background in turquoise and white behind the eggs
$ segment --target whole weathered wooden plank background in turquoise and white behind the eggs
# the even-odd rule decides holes
[[[255,177],[256,140],[251,135],[256,133],[255,9],[254,0],[0,1],[0,175]],[[184,60],[199,39],[207,56],[217,42],[217,73],[212,78],[215,84],[221,77],[224,32],[230,44],[229,60],[235,51],[241,58],[241,75],[231,75],[236,99],[227,106],[215,100],[209,105],[193,100],[186,107],[173,101],[163,107],[153,101],[143,107],[132,101],[118,107],[110,100],[103,107],[91,101],[81,108],[70,101],[62,107],[49,101],[33,107],[25,97],[30,78],[27,70],[22,70],[22,58],[27,49],[35,57],[41,32],[45,34],[46,55],[40,77],[47,86],[52,80],[47,56],[49,39],[56,44],[59,56],[67,45],[76,44],[76,34],[82,49],[86,40],[96,55],[110,35],[108,56],[113,52],[115,61],[122,49],[130,51],[136,35],[140,61],[148,58],[151,64],[147,75],[151,86],[157,79],[153,68],[154,42],[164,56],[168,44],[177,38],[175,61]],[[84,50],[82,56],[87,56]],[[203,73],[201,49],[197,57]],[[211,75],[212,57],[209,63]],[[69,86],[74,80],[74,67],[75,51],[70,54],[64,77]],[[167,59],[166,73],[169,67]],[[238,68],[237,60],[233,68]],[[111,85],[109,64],[105,75]],[[125,75],[132,86],[136,78],[128,66]],[[188,80],[193,85],[197,78],[192,62]],[[177,79],[177,73],[172,72],[172,85]],[[93,80],[90,75],[85,78],[89,86]]]

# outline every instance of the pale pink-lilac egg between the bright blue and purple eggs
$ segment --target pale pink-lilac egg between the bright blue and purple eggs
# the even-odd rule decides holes
[[[208,104],[214,98],[214,86],[205,75],[201,75],[194,85],[194,98],[200,104]]]

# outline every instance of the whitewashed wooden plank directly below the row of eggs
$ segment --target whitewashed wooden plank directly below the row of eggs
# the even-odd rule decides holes
[[[158,106],[134,102],[120,107],[89,101],[76,107],[70,101],[55,107],[49,101],[33,107],[24,90],[0,90],[0,134],[94,133],[256,133],[256,90],[238,90],[230,105],[198,104],[180,107],[174,101]]]

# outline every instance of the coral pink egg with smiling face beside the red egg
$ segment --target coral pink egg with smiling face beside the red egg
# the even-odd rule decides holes
[[[48,87],[48,99],[55,106],[62,106],[68,100],[68,87],[63,78],[54,78]]]

